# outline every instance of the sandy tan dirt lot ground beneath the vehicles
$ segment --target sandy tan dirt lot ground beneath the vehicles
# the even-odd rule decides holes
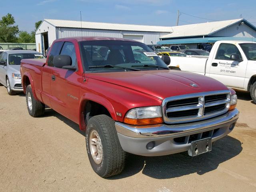
[[[32,118],[24,94],[0,87],[0,191],[256,191],[256,105],[238,93],[234,131],[194,158],[131,155],[118,176],[96,175],[78,125],[47,109]]]

